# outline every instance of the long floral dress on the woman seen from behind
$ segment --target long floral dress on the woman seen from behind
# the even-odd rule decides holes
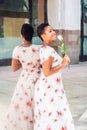
[[[34,86],[40,76],[38,45],[17,46],[13,58],[22,64],[22,72],[13,94],[3,130],[33,130]]]

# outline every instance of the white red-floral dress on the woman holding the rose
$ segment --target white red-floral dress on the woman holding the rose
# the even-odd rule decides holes
[[[52,67],[59,65],[62,61],[53,48],[42,47],[40,49],[41,64],[49,56],[54,57]],[[42,72],[35,85],[34,130],[75,130],[60,71],[47,77]]]

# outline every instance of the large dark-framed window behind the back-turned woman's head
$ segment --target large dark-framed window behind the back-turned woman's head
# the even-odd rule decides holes
[[[34,27],[34,43],[41,44],[36,28],[47,20],[47,0],[0,0],[0,60],[10,59],[16,45],[22,43],[21,25],[25,22]]]

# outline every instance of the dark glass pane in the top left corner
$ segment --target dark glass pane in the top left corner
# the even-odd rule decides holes
[[[0,10],[28,12],[28,0],[0,0]]]

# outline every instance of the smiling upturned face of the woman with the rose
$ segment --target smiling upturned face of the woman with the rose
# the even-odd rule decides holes
[[[45,31],[43,34],[44,41],[47,41],[48,43],[50,43],[56,40],[56,37],[57,37],[56,32],[53,30],[51,26],[45,27]]]

